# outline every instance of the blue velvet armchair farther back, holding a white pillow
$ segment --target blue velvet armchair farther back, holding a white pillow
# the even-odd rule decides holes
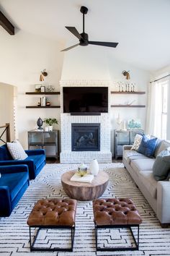
[[[35,179],[37,174],[40,173],[43,166],[45,166],[45,150],[25,150],[28,157],[24,160],[14,160],[5,145],[0,147],[0,166],[26,164],[29,169],[30,179]]]

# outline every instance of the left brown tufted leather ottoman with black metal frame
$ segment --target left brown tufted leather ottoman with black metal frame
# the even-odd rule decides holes
[[[73,251],[76,204],[77,201],[74,199],[42,199],[37,201],[27,220],[27,224],[30,226],[31,251]],[[38,228],[33,241],[31,241],[31,228]],[[71,229],[71,248],[34,247],[40,229]]]

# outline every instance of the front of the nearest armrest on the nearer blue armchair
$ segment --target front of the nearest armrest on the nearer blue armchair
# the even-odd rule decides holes
[[[0,186],[0,216],[10,216],[12,204],[10,200],[9,187]]]

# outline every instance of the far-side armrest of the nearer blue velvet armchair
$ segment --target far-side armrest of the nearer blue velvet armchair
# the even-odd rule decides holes
[[[14,165],[14,166],[0,166],[0,173],[1,174],[14,174],[18,172],[28,172],[28,166],[27,165]]]

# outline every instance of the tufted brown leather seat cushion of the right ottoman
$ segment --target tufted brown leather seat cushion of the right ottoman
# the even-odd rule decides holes
[[[130,198],[107,198],[93,200],[94,222],[97,225],[130,225],[142,223]]]

